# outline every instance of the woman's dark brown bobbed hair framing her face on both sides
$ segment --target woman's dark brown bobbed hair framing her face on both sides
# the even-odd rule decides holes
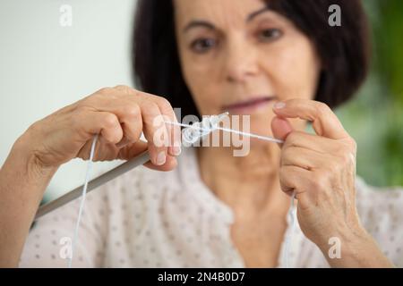
[[[266,0],[313,41],[322,60],[315,100],[334,108],[363,83],[369,66],[367,19],[360,0]],[[339,4],[341,26],[329,24]],[[199,114],[184,82],[176,46],[172,0],[139,0],[133,32],[134,80],[142,90],[166,97],[183,114]]]

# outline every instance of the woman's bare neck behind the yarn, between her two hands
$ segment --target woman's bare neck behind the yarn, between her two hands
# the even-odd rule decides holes
[[[279,147],[251,145],[247,156],[232,148],[197,149],[201,179],[228,206],[245,216],[287,212],[289,198],[279,187]]]

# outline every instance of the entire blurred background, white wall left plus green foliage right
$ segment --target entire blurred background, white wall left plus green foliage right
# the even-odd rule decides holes
[[[373,26],[373,68],[337,110],[358,144],[357,173],[375,186],[403,186],[403,1],[364,0]],[[70,5],[72,26],[60,23]],[[133,86],[134,0],[0,0],[0,164],[32,122],[101,87]],[[121,162],[95,164],[93,175]],[[64,164],[46,200],[81,185],[86,165]]]

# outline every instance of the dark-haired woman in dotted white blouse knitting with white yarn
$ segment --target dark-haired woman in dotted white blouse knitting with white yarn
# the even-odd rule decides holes
[[[356,178],[356,143],[331,110],[353,95],[368,63],[360,2],[337,1],[342,26],[330,27],[334,2],[139,1],[133,64],[148,93],[102,88],[21,135],[0,174],[1,264],[66,265],[77,206],[30,224],[58,166],[88,158],[99,133],[95,160],[148,148],[146,166],[157,172],[136,169],[89,195],[73,266],[282,267],[287,257],[298,267],[402,266],[401,191]],[[156,116],[176,121],[172,106],[250,114],[253,133],[284,144],[251,140],[241,157],[233,147],[179,156],[153,138]],[[177,130],[166,128],[175,143]]]

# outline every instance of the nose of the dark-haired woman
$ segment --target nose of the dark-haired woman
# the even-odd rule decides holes
[[[244,39],[236,39],[227,43],[225,51],[225,69],[227,80],[244,82],[259,71],[255,51]]]

